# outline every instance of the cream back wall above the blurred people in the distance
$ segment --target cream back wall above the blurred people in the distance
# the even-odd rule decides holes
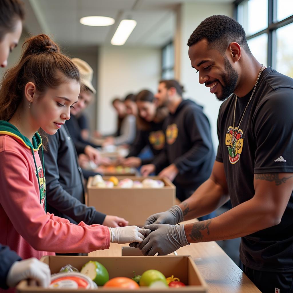
[[[103,134],[116,130],[111,101],[142,89],[156,91],[161,76],[161,50],[106,46],[98,52],[98,123]]]

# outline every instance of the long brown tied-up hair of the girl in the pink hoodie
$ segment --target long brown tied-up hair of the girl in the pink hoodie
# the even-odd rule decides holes
[[[60,53],[59,47],[47,36],[37,35],[23,44],[19,62],[8,69],[0,88],[0,120],[8,121],[23,102],[28,82],[44,94],[48,88],[57,88],[66,79],[79,81],[79,71],[72,61]]]

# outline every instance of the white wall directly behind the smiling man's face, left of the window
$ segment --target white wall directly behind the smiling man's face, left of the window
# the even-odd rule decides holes
[[[195,28],[205,18],[222,14],[232,17],[233,4],[215,4],[215,3],[185,3],[178,9],[178,25],[176,34],[179,44],[175,47],[178,48],[176,57],[178,58],[176,64],[179,68],[176,69],[177,78],[185,87],[185,97],[189,97],[196,103],[204,107],[204,113],[209,118],[212,131],[212,139],[215,150],[218,147],[217,137],[217,117],[221,102],[219,102],[214,94],[209,92],[209,88],[205,87],[198,82],[198,73],[191,67],[190,59],[188,57],[187,41]],[[177,41],[178,41],[177,40]]]

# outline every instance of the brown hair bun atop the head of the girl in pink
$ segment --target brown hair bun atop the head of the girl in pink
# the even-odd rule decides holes
[[[59,47],[47,35],[36,35],[23,44],[25,51],[23,57],[31,54],[39,54],[45,52],[60,52]]]

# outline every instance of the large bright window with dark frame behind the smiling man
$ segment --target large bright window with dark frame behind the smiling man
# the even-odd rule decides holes
[[[252,54],[293,78],[293,0],[236,0],[236,19]]]

